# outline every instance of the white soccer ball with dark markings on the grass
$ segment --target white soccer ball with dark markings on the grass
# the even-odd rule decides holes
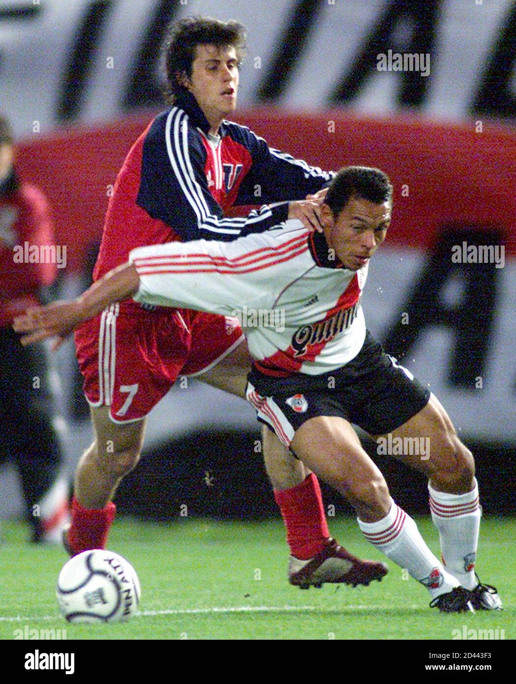
[[[55,592],[68,622],[126,622],[138,607],[140,588],[133,566],[102,549],[83,551],[59,573]]]

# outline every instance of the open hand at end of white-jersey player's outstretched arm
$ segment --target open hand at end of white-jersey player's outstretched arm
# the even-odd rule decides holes
[[[27,333],[20,339],[24,347],[48,337],[57,337],[52,345],[54,352],[74,328],[86,319],[87,315],[79,300],[72,300],[55,302],[48,306],[31,306],[24,314],[14,319],[12,327],[16,332]]]

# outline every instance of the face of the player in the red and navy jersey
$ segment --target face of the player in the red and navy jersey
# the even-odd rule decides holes
[[[236,107],[238,66],[234,47],[198,45],[192,75],[185,86],[195,96],[210,123],[220,122]]]

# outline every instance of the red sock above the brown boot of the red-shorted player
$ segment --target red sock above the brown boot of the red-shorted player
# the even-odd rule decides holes
[[[316,476],[310,473],[295,487],[282,492],[275,490],[274,498],[282,512],[290,553],[301,560],[313,558],[322,551],[329,537],[323,497]]]

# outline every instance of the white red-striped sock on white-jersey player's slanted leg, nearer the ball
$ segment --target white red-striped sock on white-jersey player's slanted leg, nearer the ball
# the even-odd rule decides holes
[[[433,599],[459,586],[459,581],[447,573],[426,546],[418,526],[391,499],[385,518],[376,523],[364,523],[357,518],[365,538],[429,590]]]

